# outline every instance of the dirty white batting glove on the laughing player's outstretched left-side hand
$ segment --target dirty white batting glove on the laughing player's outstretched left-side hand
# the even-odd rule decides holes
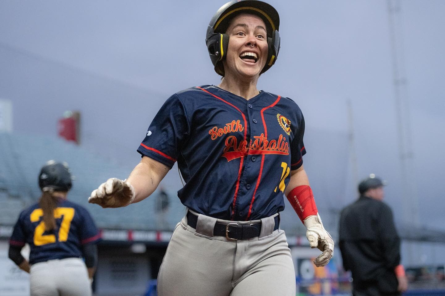
[[[125,207],[134,201],[133,186],[125,180],[110,178],[93,190],[88,202],[102,208]]]

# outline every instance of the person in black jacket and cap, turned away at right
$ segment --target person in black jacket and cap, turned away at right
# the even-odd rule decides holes
[[[352,273],[353,296],[392,296],[408,282],[400,264],[400,238],[392,211],[382,200],[384,182],[371,174],[360,182],[360,197],[340,214],[340,251]]]

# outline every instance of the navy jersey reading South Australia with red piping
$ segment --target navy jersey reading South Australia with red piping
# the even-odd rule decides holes
[[[304,118],[288,98],[261,91],[250,100],[216,86],[172,95],[138,152],[170,168],[186,185],[182,204],[225,220],[255,220],[284,209],[290,171],[306,153]]]

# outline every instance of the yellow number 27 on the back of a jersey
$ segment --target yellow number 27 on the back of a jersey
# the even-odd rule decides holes
[[[40,217],[43,216],[42,209],[35,209],[30,215],[31,222],[38,222]],[[54,218],[62,218],[62,223],[59,229],[58,240],[66,241],[68,239],[69,226],[74,217],[73,208],[56,208],[54,209]],[[54,234],[43,234],[45,232],[45,223],[40,221],[34,230],[34,245],[41,246],[56,242],[56,236]]]

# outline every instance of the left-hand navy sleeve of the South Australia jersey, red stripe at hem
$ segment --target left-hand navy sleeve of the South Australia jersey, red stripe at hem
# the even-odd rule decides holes
[[[138,152],[171,168],[189,134],[186,109],[178,95],[174,94],[154,117]]]

